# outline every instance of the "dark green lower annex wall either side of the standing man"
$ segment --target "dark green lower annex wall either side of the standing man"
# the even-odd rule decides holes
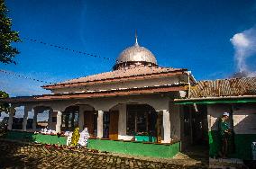
[[[251,160],[251,142],[256,141],[256,134],[234,134],[234,147],[229,145],[228,157]],[[232,142],[230,139],[229,142]],[[218,156],[221,149],[221,140],[218,137],[218,131],[209,132],[209,156]]]

